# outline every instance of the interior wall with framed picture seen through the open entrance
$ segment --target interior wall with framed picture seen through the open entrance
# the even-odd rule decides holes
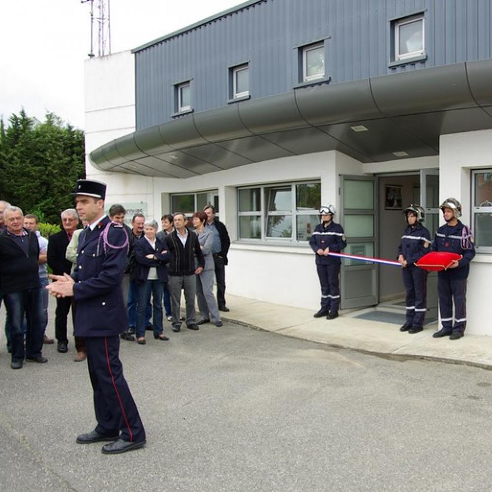
[[[379,177],[379,257],[395,260],[406,222],[403,209],[419,204],[419,174]],[[379,266],[379,302],[404,297],[399,268]]]

